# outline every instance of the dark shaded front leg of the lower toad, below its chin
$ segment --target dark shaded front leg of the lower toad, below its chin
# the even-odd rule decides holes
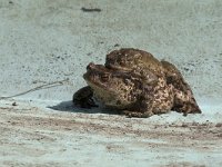
[[[93,100],[93,90],[87,86],[74,92],[72,101],[75,106],[81,108],[98,107]]]

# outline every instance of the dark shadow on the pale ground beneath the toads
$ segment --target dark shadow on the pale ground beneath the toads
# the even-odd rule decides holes
[[[62,101],[56,106],[48,106],[48,108],[58,111],[69,111],[69,112],[82,112],[82,114],[108,114],[108,115],[119,115],[120,112],[112,109],[105,109],[100,107],[80,108],[74,106],[72,101]]]

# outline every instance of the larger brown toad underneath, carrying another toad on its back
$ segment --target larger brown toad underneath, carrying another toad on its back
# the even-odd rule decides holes
[[[91,62],[83,78],[89,87],[80,89],[73,96],[73,101],[81,107],[94,105],[93,96],[107,108],[123,110],[130,117],[150,117],[169,111],[173,105],[172,87],[165,86],[162,92],[157,91],[157,84],[162,87],[162,82],[149,71],[144,82],[140,75]],[[164,98],[164,102],[158,96]]]

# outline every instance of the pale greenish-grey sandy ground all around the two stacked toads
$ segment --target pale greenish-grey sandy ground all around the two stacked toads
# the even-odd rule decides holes
[[[0,96],[19,95],[0,98],[0,166],[222,166],[221,9],[218,0],[0,0]],[[203,114],[130,119],[73,107],[85,66],[121,47],[173,62]]]

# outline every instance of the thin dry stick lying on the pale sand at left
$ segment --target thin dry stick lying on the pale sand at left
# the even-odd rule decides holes
[[[1,99],[9,99],[9,98],[22,96],[22,95],[26,95],[26,94],[28,94],[28,92],[37,91],[37,90],[40,90],[40,89],[48,89],[48,88],[52,88],[52,87],[62,86],[62,85],[64,85],[64,82],[68,81],[68,80],[69,80],[69,79],[64,79],[64,80],[60,80],[60,81],[53,81],[53,82],[49,82],[49,84],[46,84],[46,85],[41,85],[41,86],[39,86],[39,87],[29,89],[29,90],[27,90],[27,91],[23,91],[23,92],[17,94],[17,95],[8,96],[8,97],[0,97],[0,100],[1,100]]]

